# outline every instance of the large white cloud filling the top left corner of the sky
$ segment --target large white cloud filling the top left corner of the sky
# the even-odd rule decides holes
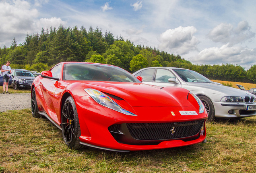
[[[47,0],[41,0],[47,2]],[[39,1],[35,2],[39,5]],[[40,32],[41,28],[56,27],[66,24],[60,18],[41,18],[38,19],[39,12],[33,8],[29,1],[12,0],[0,2],[0,47],[9,46],[15,37],[18,44],[23,42],[26,34]],[[8,40],[8,41],[7,41]]]

